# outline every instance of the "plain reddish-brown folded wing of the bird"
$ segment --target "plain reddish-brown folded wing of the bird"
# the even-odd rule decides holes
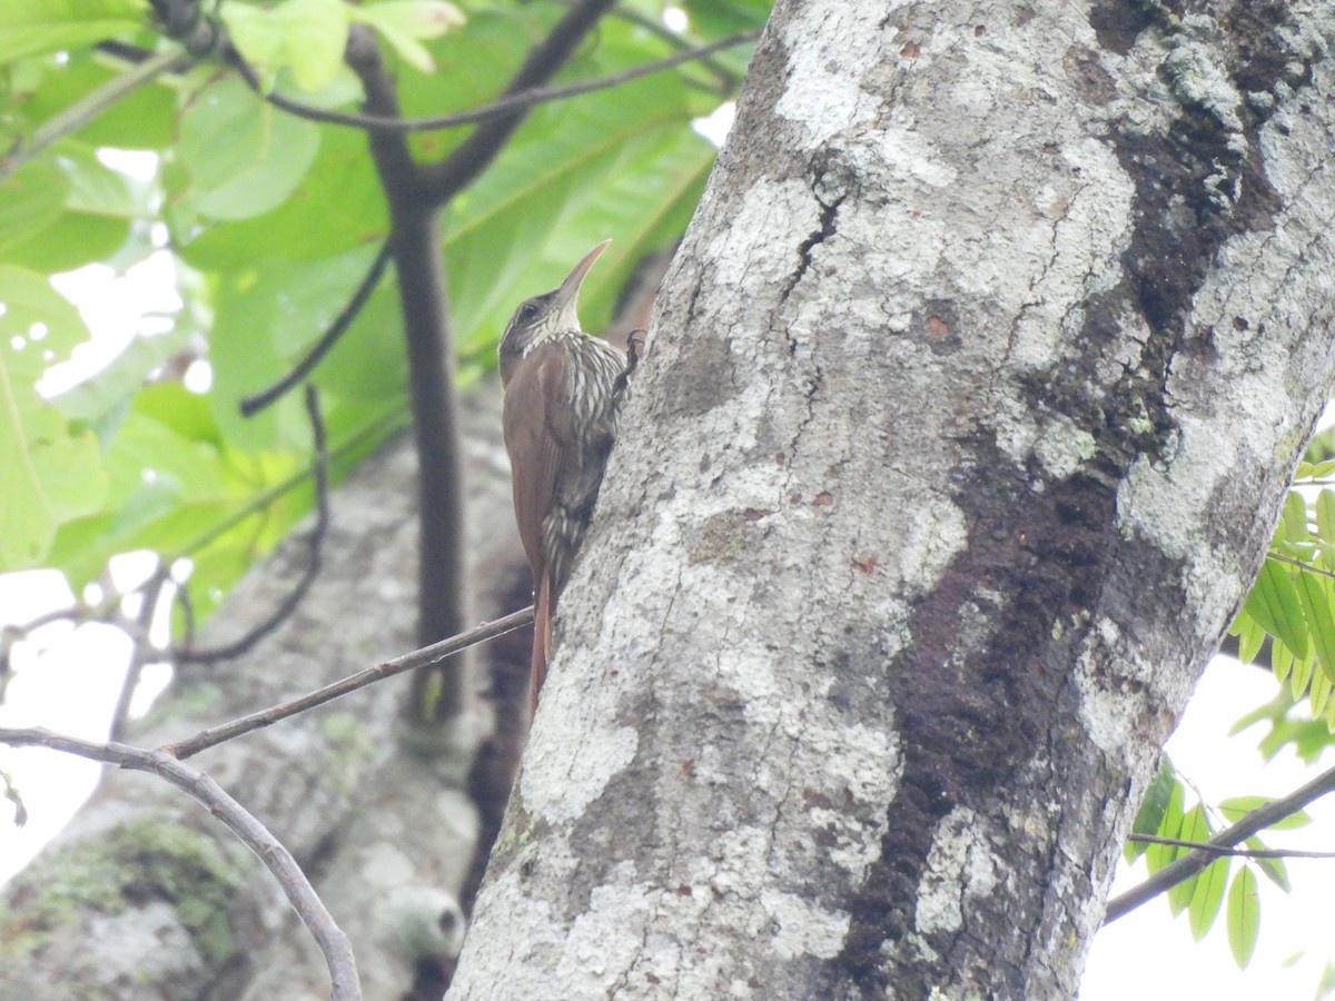
[[[555,499],[570,442],[569,354],[542,344],[515,366],[506,386],[502,428],[510,452],[514,517],[533,567],[542,574],[542,522]]]

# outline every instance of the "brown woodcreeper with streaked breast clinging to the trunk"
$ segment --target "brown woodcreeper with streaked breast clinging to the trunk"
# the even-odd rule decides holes
[[[533,570],[530,718],[551,657],[557,598],[570,577],[617,436],[626,355],[579,326],[579,287],[611,240],[550,292],[525,299],[501,336],[502,430],[514,517]]]

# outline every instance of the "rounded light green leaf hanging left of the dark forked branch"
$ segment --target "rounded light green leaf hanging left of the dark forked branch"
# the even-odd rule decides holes
[[[179,153],[192,206],[215,219],[248,219],[280,206],[315,161],[319,127],[278,111],[228,77],[182,116]]]

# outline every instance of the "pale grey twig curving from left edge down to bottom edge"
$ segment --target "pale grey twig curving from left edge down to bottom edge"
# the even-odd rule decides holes
[[[208,774],[178,761],[163,750],[143,750],[116,742],[81,741],[40,727],[0,729],[0,743],[8,743],[13,747],[48,747],[134,771],[148,771],[196,799],[218,817],[246,848],[259,856],[260,862],[278,880],[287,900],[306,928],[310,929],[320,952],[324,953],[332,985],[331,997],[336,1001],[360,1001],[362,986],[356,976],[352,946],[343,930],[335,924],[319,894],[315,893],[306,873],[292,858],[291,852]]]

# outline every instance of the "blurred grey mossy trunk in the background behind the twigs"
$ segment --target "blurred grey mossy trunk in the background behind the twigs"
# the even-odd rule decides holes
[[[495,585],[497,569],[523,563],[498,396],[489,387],[466,410],[485,585]],[[359,468],[335,491],[324,570],[296,614],[239,661],[184,669],[127,741],[182,739],[411,650],[413,478],[403,440]],[[300,535],[238,585],[204,645],[271,614],[306,559]],[[513,610],[482,590],[487,613]],[[453,746],[415,746],[402,723],[406,693],[405,678],[375,685],[191,761],[311,876],[375,1000],[403,997],[422,962],[453,962],[462,932],[455,894],[477,827],[462,791],[477,733],[455,733]],[[5,1001],[328,997],[323,958],[258,860],[151,775],[108,773],[60,840],[5,888],[0,914]]]

